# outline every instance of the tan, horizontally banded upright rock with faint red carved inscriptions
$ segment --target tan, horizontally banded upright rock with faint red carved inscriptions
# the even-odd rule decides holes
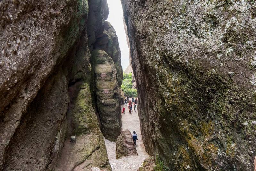
[[[92,69],[97,110],[105,138],[115,141],[121,133],[120,87],[112,58],[103,51],[92,51]]]

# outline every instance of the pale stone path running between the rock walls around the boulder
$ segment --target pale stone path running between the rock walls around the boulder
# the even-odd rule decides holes
[[[122,114],[122,130],[128,129],[131,133],[136,131],[136,134],[138,135],[138,141],[136,141],[138,156],[127,156],[117,160],[116,142],[111,142],[105,139],[108,159],[112,167],[112,171],[137,171],[149,155],[145,151],[145,146],[142,141],[138,113],[134,112],[133,109],[132,114],[129,114],[128,106],[122,105],[121,108],[123,107],[125,107],[125,114]]]

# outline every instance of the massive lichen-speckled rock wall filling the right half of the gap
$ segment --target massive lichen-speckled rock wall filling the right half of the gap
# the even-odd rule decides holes
[[[173,170],[252,170],[255,2],[122,4],[147,152]]]

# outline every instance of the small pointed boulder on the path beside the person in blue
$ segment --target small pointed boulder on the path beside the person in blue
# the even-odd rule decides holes
[[[131,132],[126,129],[121,132],[116,141],[116,159],[123,156],[137,156],[137,150],[132,140]]]

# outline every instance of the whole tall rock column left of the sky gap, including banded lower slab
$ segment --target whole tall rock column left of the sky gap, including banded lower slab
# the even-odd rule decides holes
[[[99,2],[89,1],[92,8],[89,8],[90,20],[87,25],[88,46],[92,53],[92,100],[103,135],[109,140],[116,141],[121,132],[121,51],[113,26],[104,21],[107,17],[100,16],[95,10]]]

